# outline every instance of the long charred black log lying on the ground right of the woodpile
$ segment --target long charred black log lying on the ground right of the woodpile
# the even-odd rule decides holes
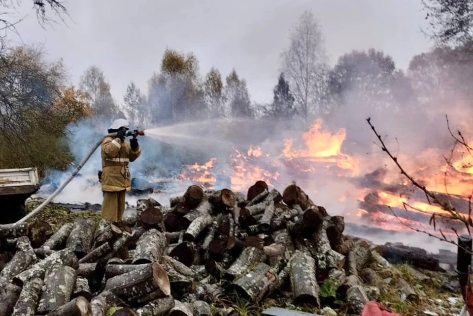
[[[439,259],[427,254],[427,252],[421,248],[388,242],[385,245],[378,246],[376,251],[392,264],[410,263],[417,268],[445,272],[445,270],[439,266]]]

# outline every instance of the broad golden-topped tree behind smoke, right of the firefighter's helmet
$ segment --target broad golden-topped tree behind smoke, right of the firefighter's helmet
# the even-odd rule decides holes
[[[161,72],[149,81],[148,99],[153,122],[182,121],[205,116],[199,63],[191,54],[167,49],[161,61]]]

